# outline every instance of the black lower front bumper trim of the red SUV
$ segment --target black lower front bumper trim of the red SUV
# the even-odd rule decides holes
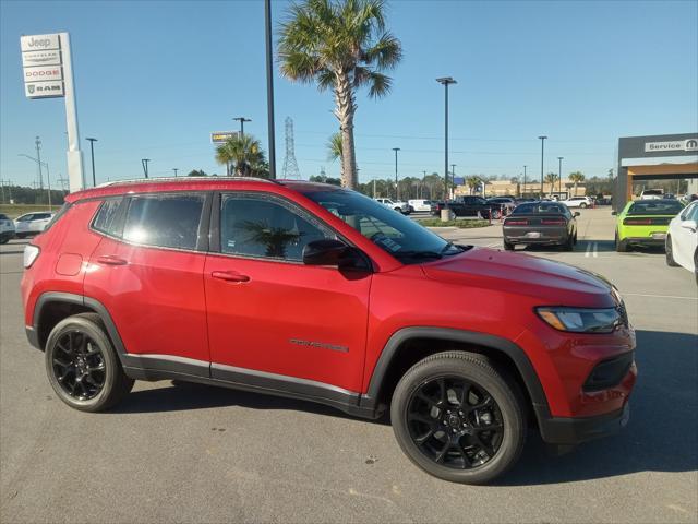
[[[617,433],[630,418],[628,403],[622,409],[594,417],[551,417],[539,420],[543,441],[549,444],[575,445]]]

